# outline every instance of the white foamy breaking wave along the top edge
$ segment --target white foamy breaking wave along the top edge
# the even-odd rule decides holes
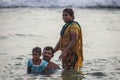
[[[0,8],[83,7],[120,8],[120,0],[1,0]]]

